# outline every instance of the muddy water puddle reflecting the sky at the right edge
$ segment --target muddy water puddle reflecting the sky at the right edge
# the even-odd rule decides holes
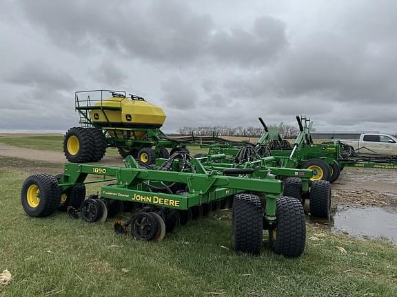
[[[327,225],[333,232],[382,239],[397,245],[397,208],[337,206],[330,219],[309,218],[307,221]]]

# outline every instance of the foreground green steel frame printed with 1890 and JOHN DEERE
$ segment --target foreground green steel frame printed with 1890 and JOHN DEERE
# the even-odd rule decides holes
[[[221,159],[225,155],[207,157]],[[101,187],[101,197],[122,201],[147,203],[154,206],[187,210],[193,206],[210,203],[239,192],[261,192],[265,199],[265,220],[269,225],[274,223],[276,214],[276,197],[283,192],[283,182],[275,179],[275,175],[301,177],[308,188],[308,180],[312,177],[312,170],[296,170],[287,168],[266,168],[269,160],[263,159],[254,164],[247,163],[245,168],[252,168],[252,173],[238,176],[223,175],[227,164],[203,166],[200,159],[192,159],[196,173],[150,170],[139,168],[131,156],[125,158],[125,168],[113,166],[96,166],[85,164],[65,164],[65,170],[59,179],[62,192],[68,192],[72,186],[78,184],[92,184],[112,182]],[[159,164],[165,159],[158,159]],[[234,168],[239,170],[239,168]],[[103,179],[86,181],[88,175],[101,175]],[[146,182],[176,182],[186,184],[188,192],[183,195],[152,192]]]

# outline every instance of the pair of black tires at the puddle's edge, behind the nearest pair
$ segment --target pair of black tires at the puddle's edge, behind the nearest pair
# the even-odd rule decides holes
[[[284,183],[283,195],[294,197],[298,201],[309,199],[309,211],[314,217],[327,219],[331,213],[331,186],[329,181],[313,181],[309,189],[309,195],[304,195],[302,180],[298,177],[288,177]]]

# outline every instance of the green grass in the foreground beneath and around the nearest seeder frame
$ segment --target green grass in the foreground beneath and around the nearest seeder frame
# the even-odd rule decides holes
[[[0,271],[13,275],[0,296],[397,296],[396,248],[320,225],[308,225],[303,256],[286,259],[269,250],[267,236],[260,256],[234,253],[230,210],[161,243],[118,236],[111,220],[90,224],[63,212],[30,218],[21,184],[26,171],[45,164],[15,160],[0,159]],[[59,170],[48,164],[50,173]]]

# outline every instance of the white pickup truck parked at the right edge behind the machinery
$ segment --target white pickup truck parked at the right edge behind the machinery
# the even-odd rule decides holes
[[[340,140],[359,155],[397,155],[397,138],[387,134],[362,133],[359,140]]]

